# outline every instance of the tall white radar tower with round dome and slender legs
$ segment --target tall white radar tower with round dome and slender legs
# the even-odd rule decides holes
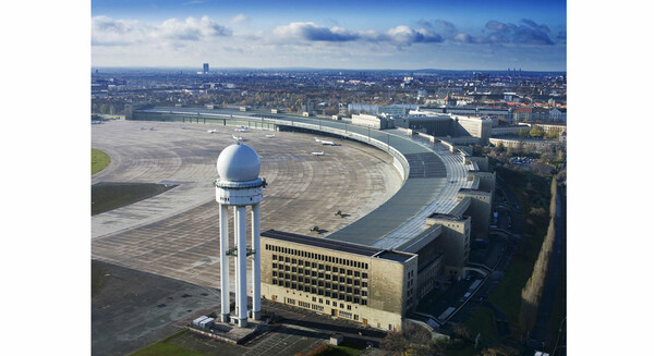
[[[246,258],[252,259],[252,318],[261,319],[261,225],[259,202],[264,198],[265,182],[258,174],[261,160],[247,145],[237,143],[228,146],[218,156],[218,180],[216,201],[220,207],[220,321],[233,320],[239,327],[247,327],[247,268]],[[245,208],[252,211],[252,243],[247,246],[245,229]],[[234,226],[233,247],[229,247],[228,207],[233,207]],[[229,265],[234,258],[235,271],[235,316],[230,316],[229,303]]]

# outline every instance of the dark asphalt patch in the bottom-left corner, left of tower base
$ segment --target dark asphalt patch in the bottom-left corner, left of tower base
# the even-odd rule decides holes
[[[218,308],[215,291],[132,269],[95,263],[102,283],[92,296],[92,354],[126,355]]]

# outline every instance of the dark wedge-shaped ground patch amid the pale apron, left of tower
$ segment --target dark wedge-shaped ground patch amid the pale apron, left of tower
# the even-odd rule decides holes
[[[90,186],[90,214],[110,211],[159,195],[177,185],[154,183],[97,183]]]

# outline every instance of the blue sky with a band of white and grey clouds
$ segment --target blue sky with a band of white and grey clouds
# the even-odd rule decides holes
[[[566,1],[94,0],[92,65],[567,70]]]

